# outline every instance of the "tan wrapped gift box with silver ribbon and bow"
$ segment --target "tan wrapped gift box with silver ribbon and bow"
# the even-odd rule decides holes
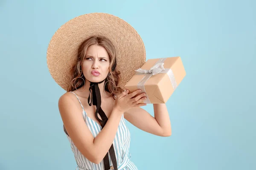
[[[138,89],[145,93],[147,99],[140,103],[166,103],[185,76],[180,57],[148,59],[125,88],[129,94]]]

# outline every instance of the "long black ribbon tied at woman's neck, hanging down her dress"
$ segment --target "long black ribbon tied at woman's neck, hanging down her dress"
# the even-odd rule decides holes
[[[104,82],[104,80],[102,80],[101,82],[90,82],[89,81],[90,82],[90,88],[89,88],[89,97],[88,97],[88,104],[90,106],[92,104],[96,105],[95,116],[96,116],[96,119],[99,120],[99,122],[101,123],[102,128],[107,123],[108,117],[106,116],[104,111],[102,111],[102,108],[101,108],[101,95],[100,95],[98,84]],[[99,113],[99,116],[102,118],[102,120],[99,119],[98,113]],[[114,170],[117,170],[116,155],[115,155],[115,150],[114,150],[113,144],[111,145],[108,152],[109,152],[111,160],[113,162]],[[103,160],[104,160],[105,170],[109,170],[110,169],[110,164],[109,164],[108,153],[105,155]]]

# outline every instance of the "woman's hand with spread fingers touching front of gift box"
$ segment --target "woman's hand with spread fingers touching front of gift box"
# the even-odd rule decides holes
[[[145,93],[136,96],[140,92],[141,91],[139,89],[137,91],[132,92],[131,94],[128,94],[129,91],[125,90],[124,92],[116,96],[114,108],[119,110],[121,113],[124,113],[125,111],[131,108],[145,106],[145,103],[140,103],[146,99]]]

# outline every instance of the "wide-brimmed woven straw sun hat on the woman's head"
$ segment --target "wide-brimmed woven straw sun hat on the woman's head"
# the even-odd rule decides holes
[[[146,59],[145,46],[137,31],[112,14],[90,13],[75,17],[62,25],[49,42],[47,65],[55,82],[67,91],[70,69],[77,59],[81,42],[92,36],[106,37],[116,50],[116,69],[123,90]]]

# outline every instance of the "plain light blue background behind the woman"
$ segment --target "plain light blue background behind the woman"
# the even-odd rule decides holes
[[[255,170],[255,9],[253,0],[0,0],[0,170],[76,169],[46,52],[62,24],[91,12],[130,23],[147,59],[180,56],[186,69],[166,103],[172,136],[128,123],[139,170]]]

